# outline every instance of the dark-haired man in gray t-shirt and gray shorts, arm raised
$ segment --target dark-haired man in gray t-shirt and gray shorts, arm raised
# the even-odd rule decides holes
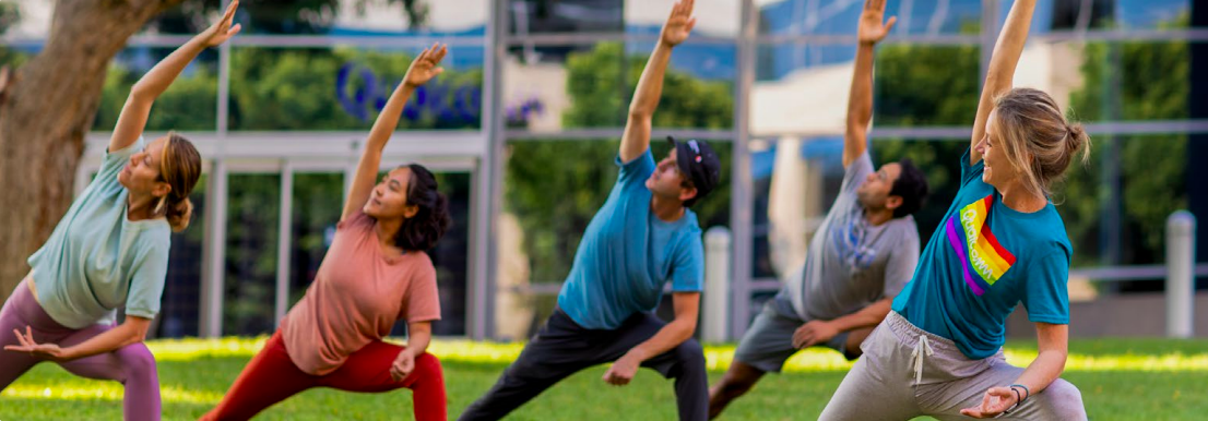
[[[872,48],[888,34],[879,10],[865,2],[860,47],[848,99],[843,139],[843,185],[809,242],[806,263],[788,276],[747,331],[734,361],[709,390],[709,417],[784,362],[809,346],[826,346],[848,359],[889,314],[893,298],[918,263],[918,228],[911,214],[927,197],[927,180],[910,159],[873,171],[867,151],[872,118]]]

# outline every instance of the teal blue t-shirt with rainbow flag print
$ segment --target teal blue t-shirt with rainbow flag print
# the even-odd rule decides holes
[[[1061,215],[1051,203],[1032,214],[1007,207],[983,170],[969,152],[960,158],[960,191],[893,305],[971,359],[998,352],[1018,303],[1033,322],[1069,323],[1073,251]]]

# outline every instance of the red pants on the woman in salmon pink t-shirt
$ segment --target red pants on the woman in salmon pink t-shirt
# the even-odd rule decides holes
[[[400,387],[412,390],[417,421],[445,421],[445,375],[431,353],[416,357],[416,368],[402,381],[390,378],[390,366],[403,347],[381,340],[354,352],[335,372],[310,375],[294,364],[285,353],[278,331],[265,349],[251,358],[222,402],[202,420],[248,420],[273,404],[310,387],[331,387],[350,392],[388,392]]]

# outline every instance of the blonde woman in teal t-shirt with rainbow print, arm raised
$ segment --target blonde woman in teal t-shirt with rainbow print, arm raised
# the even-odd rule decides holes
[[[821,420],[1086,420],[1058,376],[1069,341],[1071,247],[1049,201],[1090,139],[1044,92],[1011,88],[1035,0],[1011,5],[987,71],[960,191],[919,256],[914,277],[864,343]],[[1007,316],[1022,303],[1039,355],[1006,363]]]

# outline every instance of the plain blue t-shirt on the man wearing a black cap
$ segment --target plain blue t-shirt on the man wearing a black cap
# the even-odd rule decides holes
[[[615,329],[629,316],[652,311],[672,281],[674,292],[698,292],[704,283],[704,246],[696,214],[652,222],[646,179],[655,159],[646,150],[621,163],[612,192],[587,224],[558,306],[588,329]]]

